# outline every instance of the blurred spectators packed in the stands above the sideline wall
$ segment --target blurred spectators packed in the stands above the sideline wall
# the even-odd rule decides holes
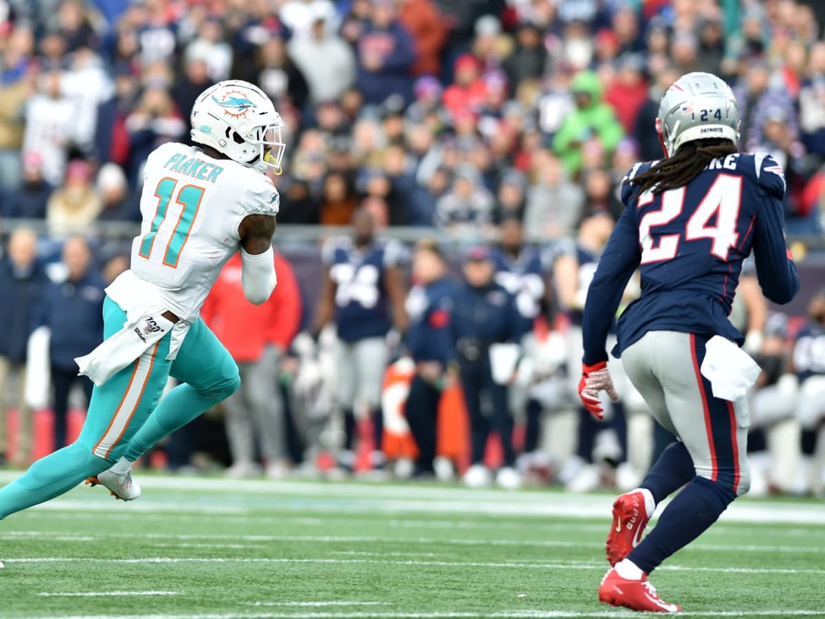
[[[817,11],[820,14],[817,14]],[[823,201],[825,41],[806,0],[0,0],[0,215],[54,234],[137,220],[141,167],[192,103],[259,84],[287,126],[281,223],[532,239],[619,210],[681,73],[737,93],[742,149],[785,166],[792,233]]]

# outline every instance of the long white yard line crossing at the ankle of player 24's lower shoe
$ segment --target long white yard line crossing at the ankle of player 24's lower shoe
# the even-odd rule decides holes
[[[143,559],[100,559],[97,557],[17,557],[3,560],[7,565],[16,563],[111,563],[111,564],[172,564],[172,563],[261,563],[261,564],[364,564],[364,565],[414,565],[417,567],[474,567],[509,569],[593,569],[605,571],[604,563],[513,563],[485,561],[417,561],[378,559],[323,559],[323,558],[258,558],[258,557],[145,557]],[[713,572],[720,574],[825,574],[825,569],[784,569],[784,568],[735,568],[735,567],[692,567],[688,565],[664,565],[659,569],[683,572]],[[823,612],[825,614],[825,612]]]

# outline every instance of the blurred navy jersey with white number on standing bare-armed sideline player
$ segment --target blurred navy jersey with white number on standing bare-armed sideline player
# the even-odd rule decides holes
[[[351,239],[331,239],[322,258],[335,282],[338,338],[357,342],[382,337],[391,326],[384,271],[403,262],[403,246],[396,241],[377,240],[358,249]]]

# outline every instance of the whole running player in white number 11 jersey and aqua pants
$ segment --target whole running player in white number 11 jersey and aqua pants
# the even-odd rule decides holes
[[[77,441],[0,489],[0,518],[87,478],[136,499],[131,463],[238,389],[238,366],[198,314],[238,251],[247,299],[261,304],[275,288],[279,196],[266,172],[281,168],[282,124],[258,87],[220,82],[192,109],[202,148],[169,143],[148,156],[131,269],[106,288],[104,343],[77,360],[95,382],[86,423]],[[158,405],[170,375],[182,384]]]

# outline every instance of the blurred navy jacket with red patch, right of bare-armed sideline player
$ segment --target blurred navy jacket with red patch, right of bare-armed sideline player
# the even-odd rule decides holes
[[[448,279],[413,286],[407,297],[407,347],[413,361],[455,361],[450,333],[455,286]]]

